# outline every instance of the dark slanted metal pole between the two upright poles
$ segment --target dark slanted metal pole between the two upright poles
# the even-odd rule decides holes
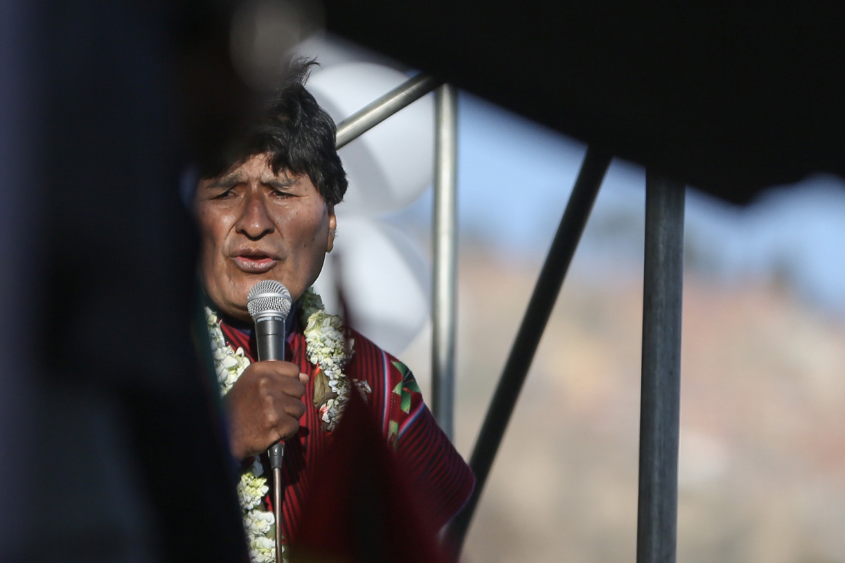
[[[572,256],[581,240],[581,233],[584,232],[584,226],[590,216],[592,205],[596,201],[598,189],[602,185],[610,160],[611,156],[590,148],[586,151],[584,161],[581,163],[581,172],[575,180],[570,201],[560,220],[558,232],[554,235],[552,248],[548,250],[546,261],[542,265],[531,301],[528,302],[528,309],[522,318],[513,347],[510,348],[510,355],[504,364],[502,377],[499,379],[499,385],[493,394],[493,401],[490,402],[481,432],[472,451],[470,467],[475,473],[476,487],[466,506],[450,523],[447,532],[450,547],[455,550],[455,555],[461,554],[466,531],[472,522],[472,515],[481,497],[490,467],[493,466],[496,452],[499,451],[504,430],[507,429],[510,416],[514,412],[528,368],[531,367],[540,337],[552,314],[566,271],[569,270]]]

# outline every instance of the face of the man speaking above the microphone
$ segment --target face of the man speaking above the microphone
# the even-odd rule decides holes
[[[319,276],[335,239],[335,210],[308,175],[278,175],[255,155],[199,182],[196,214],[205,289],[225,314],[250,320],[247,295],[277,280],[294,299]]]

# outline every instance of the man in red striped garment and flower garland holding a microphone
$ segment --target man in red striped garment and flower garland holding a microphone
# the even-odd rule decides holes
[[[472,473],[438,428],[410,371],[324,313],[308,292],[335,238],[335,205],[346,176],[335,125],[304,82],[312,63],[294,63],[248,147],[225,171],[199,182],[194,205],[209,300],[215,364],[225,396],[232,456],[243,461],[239,493],[254,560],[270,560],[264,452],[286,441],[286,540],[296,531],[308,469],[324,451],[346,397],[357,387],[414,484],[442,525],[466,502]],[[274,279],[296,302],[289,362],[255,362],[247,295]]]

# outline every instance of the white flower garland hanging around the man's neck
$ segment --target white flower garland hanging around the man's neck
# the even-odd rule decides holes
[[[305,326],[305,353],[308,361],[319,368],[315,374],[314,402],[319,408],[324,429],[331,432],[335,429],[349,399],[349,380],[342,369],[352,356],[354,341],[344,337],[341,318],[326,314],[323,300],[313,289],[308,289],[303,294],[298,306]],[[205,308],[205,318],[208,322],[211,352],[221,396],[226,396],[237,378],[248,368],[250,361],[243,353],[242,347],[234,350],[226,344],[220,327],[221,321],[208,307]],[[355,383],[362,393],[371,391],[366,382]],[[318,384],[322,391],[321,396],[317,396]],[[268,490],[270,488],[267,486],[267,478],[264,477],[264,467],[261,467],[261,462],[256,456],[253,467],[241,475],[237,484],[237,495],[243,510],[243,527],[247,533],[249,555],[253,563],[273,563],[275,560],[275,517],[272,512],[262,509],[262,500]],[[282,555],[285,555],[284,546],[282,549]]]

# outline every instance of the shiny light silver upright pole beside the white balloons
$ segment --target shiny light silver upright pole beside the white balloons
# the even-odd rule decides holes
[[[432,412],[452,439],[455,411],[455,279],[458,254],[458,90],[434,93],[434,281],[432,299]]]

